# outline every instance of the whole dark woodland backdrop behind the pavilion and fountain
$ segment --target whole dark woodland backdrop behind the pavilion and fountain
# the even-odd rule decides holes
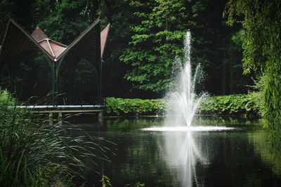
[[[225,3],[209,0],[1,1],[0,39],[4,37],[8,18],[12,17],[30,33],[39,25],[51,39],[69,44],[100,16],[102,29],[109,22],[112,25],[103,62],[103,95],[159,98],[170,85],[171,64],[176,55],[183,53],[183,36],[190,29],[192,65],[200,63],[204,70],[205,81],[200,89],[214,95],[246,93],[245,85],[251,84],[251,80],[242,76],[241,25],[226,26],[222,18]],[[15,95],[21,101],[51,92],[51,69],[40,54],[18,62],[15,76]],[[60,68],[59,78],[62,104],[69,100],[70,76],[66,63]],[[1,87],[10,88],[9,84],[4,67]],[[72,96],[77,102],[96,96],[92,89],[96,88],[95,71],[89,62],[78,63],[73,88]]]

